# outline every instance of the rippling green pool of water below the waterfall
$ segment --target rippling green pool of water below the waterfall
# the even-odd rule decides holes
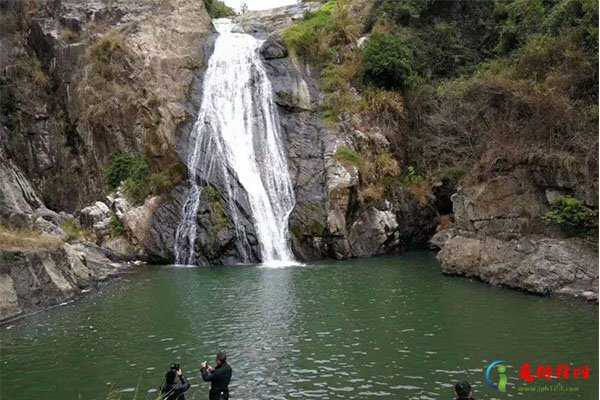
[[[148,267],[1,330],[0,397],[155,396],[171,362],[204,399],[199,364],[228,352],[237,399],[440,399],[519,394],[519,366],[587,364],[568,398],[597,399],[598,308],[444,277],[430,253],[296,268]],[[508,360],[507,393],[486,386]],[[68,384],[65,384],[68,382]],[[26,383],[26,384],[25,384]],[[24,385],[25,384],[25,385]],[[543,399],[564,399],[544,393]]]

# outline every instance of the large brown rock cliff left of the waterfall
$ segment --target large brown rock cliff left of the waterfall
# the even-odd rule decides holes
[[[0,16],[2,240],[63,242],[0,243],[5,319],[76,297],[114,261],[171,259],[178,192],[144,208],[107,196],[104,174],[115,154],[146,157],[151,173],[181,163],[212,24],[196,0],[9,0]]]

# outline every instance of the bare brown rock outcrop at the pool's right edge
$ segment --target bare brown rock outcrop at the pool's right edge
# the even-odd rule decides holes
[[[448,274],[539,294],[598,299],[598,247],[544,227],[548,188],[516,170],[461,188],[452,196],[455,225],[430,241]]]

